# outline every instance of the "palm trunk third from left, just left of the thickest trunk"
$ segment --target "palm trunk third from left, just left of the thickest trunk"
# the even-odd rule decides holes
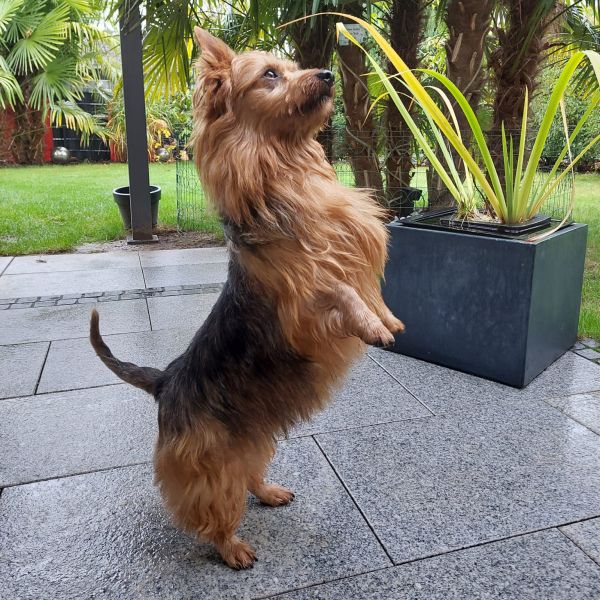
[[[392,48],[400,55],[410,69],[419,66],[417,54],[419,43],[423,37],[425,15],[424,0],[393,0],[390,11],[390,42]],[[396,75],[390,64],[390,75]],[[406,88],[397,80],[392,80],[394,87],[404,99]],[[407,101],[405,105],[408,107]],[[386,158],[386,196],[388,203],[399,195],[399,190],[410,186],[413,173],[413,137],[396,108],[390,100],[386,110],[387,158]]]

